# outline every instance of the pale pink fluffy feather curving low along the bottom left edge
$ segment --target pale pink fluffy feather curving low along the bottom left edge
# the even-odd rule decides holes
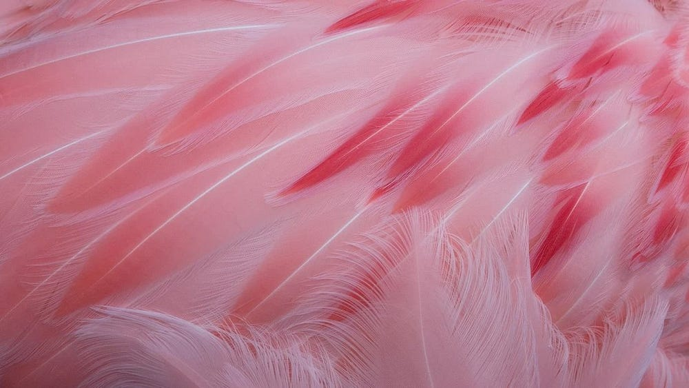
[[[336,372],[318,347],[253,327],[227,330],[133,309],[103,309],[76,331],[81,387],[333,386]],[[244,331],[244,334],[242,334]],[[122,352],[122,347],[135,351]]]

